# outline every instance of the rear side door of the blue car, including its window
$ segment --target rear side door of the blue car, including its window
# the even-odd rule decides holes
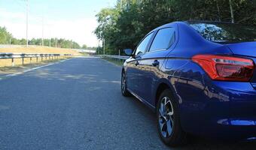
[[[139,95],[154,106],[154,90],[160,77],[160,68],[175,43],[175,28],[160,28],[139,60]]]

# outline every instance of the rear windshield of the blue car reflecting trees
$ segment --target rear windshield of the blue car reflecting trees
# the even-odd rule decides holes
[[[233,23],[190,23],[206,40],[216,43],[256,41],[256,28]]]

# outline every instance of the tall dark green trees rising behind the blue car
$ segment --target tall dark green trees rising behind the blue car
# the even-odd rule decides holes
[[[157,26],[173,21],[210,20],[256,26],[256,0],[117,0],[97,15],[94,31],[105,52],[135,48]],[[102,48],[98,53],[102,53]]]

